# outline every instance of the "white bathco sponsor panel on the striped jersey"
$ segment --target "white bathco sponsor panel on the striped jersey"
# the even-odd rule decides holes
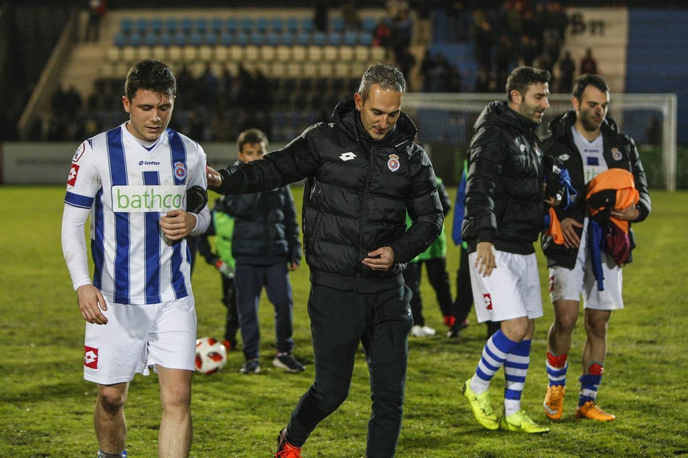
[[[112,211],[138,213],[184,208],[186,186],[113,186]]]

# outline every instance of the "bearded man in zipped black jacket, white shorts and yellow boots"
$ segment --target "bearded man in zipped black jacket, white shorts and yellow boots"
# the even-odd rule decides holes
[[[533,242],[542,224],[545,192],[535,129],[549,108],[549,81],[546,70],[512,71],[506,81],[508,103],[486,106],[475,123],[468,153],[462,238],[468,244],[473,303],[479,322],[502,323],[462,391],[475,419],[488,429],[549,431],[520,406],[535,318],[542,316]],[[502,365],[504,415],[497,420],[489,387]]]

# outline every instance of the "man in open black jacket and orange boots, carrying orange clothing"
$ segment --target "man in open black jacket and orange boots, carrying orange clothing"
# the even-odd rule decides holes
[[[622,269],[612,256],[602,252],[601,268],[604,289],[599,290],[590,262],[592,226],[586,210],[586,186],[597,174],[612,168],[627,170],[640,194],[637,205],[623,211],[611,211],[610,216],[632,222],[645,220],[652,208],[647,192],[647,178],[633,139],[619,133],[616,123],[606,118],[609,107],[609,88],[598,75],[583,75],[574,82],[573,110],[552,119],[549,133],[542,141],[546,155],[563,161],[571,183],[578,192],[577,200],[568,209],[558,208],[563,244],[555,244],[552,237],[542,237],[542,249],[550,270],[550,298],[555,320],[550,327],[547,345],[547,375],[549,378],[544,400],[545,414],[559,420],[566,393],[566,358],[571,346],[571,333],[578,319],[581,293],[585,320],[583,374],[579,381],[577,417],[597,421],[616,418],[596,404],[597,389],[602,380],[607,351],[607,327],[612,310],[623,308],[621,297]],[[630,247],[634,246],[629,229]],[[630,255],[627,260],[630,262]]]

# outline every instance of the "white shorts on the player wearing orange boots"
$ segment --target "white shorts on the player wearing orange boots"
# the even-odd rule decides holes
[[[583,295],[583,308],[594,310],[619,310],[623,308],[621,291],[623,274],[607,253],[602,257],[604,290],[597,289],[597,281],[592,275],[590,250],[588,249],[588,218],[583,223],[583,236],[578,249],[576,265],[572,269],[561,266],[550,267],[550,299],[552,303],[561,299],[580,301]]]

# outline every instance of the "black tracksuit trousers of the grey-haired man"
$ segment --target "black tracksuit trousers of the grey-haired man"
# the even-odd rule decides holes
[[[352,293],[312,284],[308,315],[315,381],[292,413],[287,439],[302,446],[317,424],[349,394],[358,343],[363,343],[372,391],[367,457],[393,457],[401,429],[413,326],[405,285],[378,293]]]

